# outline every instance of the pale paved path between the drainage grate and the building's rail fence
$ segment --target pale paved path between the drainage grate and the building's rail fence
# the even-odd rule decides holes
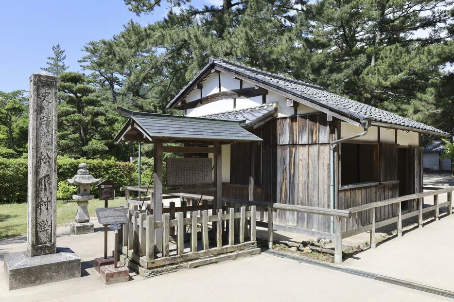
[[[344,266],[454,291],[454,215],[367,249]]]

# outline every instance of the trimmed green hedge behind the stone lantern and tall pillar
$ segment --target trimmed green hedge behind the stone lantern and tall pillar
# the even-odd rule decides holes
[[[116,195],[122,195],[120,187],[136,183],[136,166],[130,162],[115,160],[74,160],[65,157],[57,158],[58,181],[66,181],[77,173],[78,165],[85,162],[88,171],[95,178],[109,178],[116,183]],[[97,189],[93,190],[95,196]],[[0,202],[27,201],[27,159],[0,158]]]

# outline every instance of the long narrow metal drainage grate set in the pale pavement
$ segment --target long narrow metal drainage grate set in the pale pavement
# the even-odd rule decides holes
[[[424,292],[427,292],[427,293],[431,293],[431,294],[435,294],[435,295],[444,296],[444,297],[448,297],[448,298],[454,299],[454,292],[449,291],[449,290],[445,290],[445,289],[441,289],[441,288],[437,288],[437,287],[432,287],[432,286],[428,286],[428,285],[418,284],[418,283],[414,283],[414,282],[410,282],[410,281],[405,281],[405,280],[402,280],[402,279],[386,277],[386,276],[382,276],[382,275],[379,275],[379,274],[369,273],[367,271],[363,271],[363,270],[359,270],[359,269],[333,266],[333,265],[328,264],[328,263],[323,263],[323,262],[320,262],[320,261],[307,259],[307,258],[302,258],[302,257],[294,256],[294,255],[288,255],[288,254],[281,253],[281,252],[278,252],[278,251],[275,251],[275,250],[269,250],[268,249],[268,250],[263,251],[262,253],[268,254],[268,255],[272,255],[272,256],[276,256],[276,257],[279,257],[279,258],[291,259],[291,260],[294,260],[294,261],[296,261],[298,263],[305,263],[305,264],[310,264],[310,265],[313,265],[313,266],[324,267],[324,268],[328,268],[328,269],[331,269],[331,270],[341,271],[341,272],[344,272],[344,273],[347,273],[347,274],[351,274],[351,275],[356,275],[356,276],[360,276],[360,277],[374,279],[374,280],[378,280],[378,281],[382,281],[382,282],[386,282],[386,283],[390,283],[390,284],[395,284],[395,285],[399,285],[399,286],[404,286],[404,287],[408,287],[408,288],[424,291]]]

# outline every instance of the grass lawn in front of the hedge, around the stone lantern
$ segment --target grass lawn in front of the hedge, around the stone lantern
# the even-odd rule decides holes
[[[109,200],[109,207],[124,205],[124,197]],[[92,199],[88,203],[90,217],[96,217],[95,210],[104,208],[104,200]],[[57,226],[69,225],[77,211],[76,201],[57,200]],[[27,203],[0,204],[0,239],[25,235],[27,233]]]

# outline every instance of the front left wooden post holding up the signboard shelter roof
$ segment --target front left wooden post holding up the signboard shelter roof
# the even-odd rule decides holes
[[[155,141],[153,148],[154,160],[154,189],[153,189],[153,219],[162,220],[162,142]],[[157,249],[162,251],[162,229],[156,229],[155,242]]]

